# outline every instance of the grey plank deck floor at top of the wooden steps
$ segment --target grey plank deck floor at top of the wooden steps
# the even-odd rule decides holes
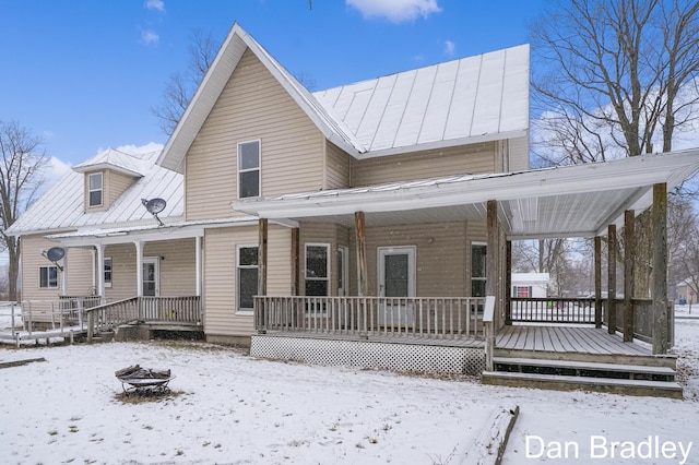
[[[512,325],[498,331],[496,349],[600,355],[652,356],[652,350],[637,342],[625,343],[606,327]]]

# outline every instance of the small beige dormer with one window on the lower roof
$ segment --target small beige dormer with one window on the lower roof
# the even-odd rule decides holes
[[[84,175],[85,213],[109,210],[119,195],[143,177],[139,162],[132,155],[109,148],[76,165],[73,170]]]

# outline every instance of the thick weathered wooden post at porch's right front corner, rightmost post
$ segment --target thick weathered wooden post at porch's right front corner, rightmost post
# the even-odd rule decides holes
[[[653,354],[667,354],[667,184],[653,186]]]

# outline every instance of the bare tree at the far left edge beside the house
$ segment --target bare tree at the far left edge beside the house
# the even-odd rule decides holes
[[[0,120],[0,241],[8,252],[8,298],[16,300],[20,272],[20,242],[5,230],[35,200],[42,186],[42,168],[46,154],[39,150],[43,141],[16,121]]]

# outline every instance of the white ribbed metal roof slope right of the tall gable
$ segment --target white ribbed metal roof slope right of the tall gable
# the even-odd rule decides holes
[[[526,135],[529,45],[316,92],[360,157]]]

